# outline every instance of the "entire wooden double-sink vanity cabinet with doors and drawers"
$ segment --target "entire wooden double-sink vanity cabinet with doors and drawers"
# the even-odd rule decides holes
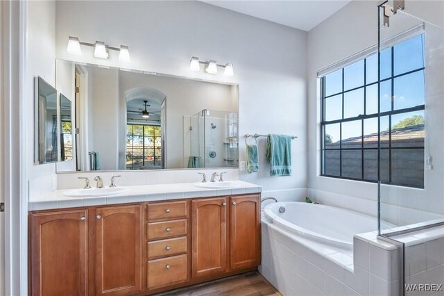
[[[260,194],[33,211],[31,295],[149,295],[255,270]]]

